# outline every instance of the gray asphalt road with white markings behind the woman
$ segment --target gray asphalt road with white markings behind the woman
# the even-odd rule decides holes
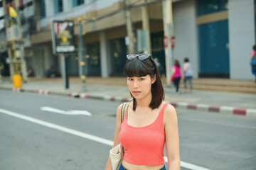
[[[105,169],[119,104],[0,90],[0,169]],[[256,169],[256,118],[177,113],[182,170]]]

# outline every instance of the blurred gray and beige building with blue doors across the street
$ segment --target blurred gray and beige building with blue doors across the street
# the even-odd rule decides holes
[[[188,57],[194,77],[252,79],[249,54],[255,44],[254,0],[173,0],[172,3],[175,60],[182,63],[183,58]],[[70,76],[79,76],[79,17],[84,21],[82,38],[87,75],[123,76],[128,51],[127,6],[123,0],[23,0],[23,4],[24,9],[34,12],[31,18],[36,21],[36,31],[29,32],[26,38],[25,58],[37,77],[43,77],[51,67],[61,72],[60,57],[54,55],[52,49],[54,20],[75,23],[76,50],[68,56],[68,69]],[[130,0],[129,4],[134,43],[137,43],[144,2]],[[158,57],[164,67],[170,67],[165,63],[162,1],[148,0],[146,5],[149,6],[151,55]],[[4,29],[1,26],[0,36]],[[1,60],[6,56],[5,50],[2,51]],[[138,52],[137,45],[134,51]]]

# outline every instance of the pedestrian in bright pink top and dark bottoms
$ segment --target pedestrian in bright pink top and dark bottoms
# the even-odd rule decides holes
[[[172,67],[171,77],[174,80],[173,82],[176,88],[176,93],[181,94],[182,89],[180,88],[179,84],[182,79],[182,73],[181,73],[181,65],[179,64],[178,60],[174,60],[174,66]]]

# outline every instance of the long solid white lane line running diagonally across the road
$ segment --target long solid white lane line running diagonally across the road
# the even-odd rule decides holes
[[[61,111],[61,110],[59,110],[59,111]],[[65,128],[65,127],[60,126],[60,125],[55,125],[53,123],[48,123],[48,122],[45,122],[43,120],[38,120],[36,118],[31,118],[31,117],[28,117],[26,115],[21,115],[21,114],[18,114],[18,113],[14,113],[12,111],[6,111],[6,110],[1,109],[1,108],[0,108],[0,112],[4,113],[6,115],[14,116],[16,118],[21,118],[23,120],[27,120],[27,121],[32,122],[32,123],[36,123],[38,125],[43,125],[43,126],[46,126],[48,128],[53,128],[55,130],[60,130],[62,132],[67,132],[67,133],[69,133],[71,135],[76,135],[76,136],[79,136],[79,137],[83,137],[83,138],[85,138],[87,140],[92,140],[92,141],[95,141],[95,142],[100,142],[100,143],[105,144],[105,145],[112,146],[113,143],[114,143],[113,141],[106,140],[106,139],[104,139],[102,137],[97,137],[97,136],[93,136],[93,135],[87,134],[85,132],[80,132],[78,130],[72,130],[70,128]],[[164,160],[165,160],[165,162],[168,162],[167,157],[164,157]],[[188,162],[182,162],[182,161],[181,161],[181,166],[186,168],[186,169],[192,169],[192,170],[210,170],[210,169],[203,168],[201,166],[197,166],[197,165],[190,164]]]

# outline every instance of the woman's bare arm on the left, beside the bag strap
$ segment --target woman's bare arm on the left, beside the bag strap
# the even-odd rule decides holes
[[[115,132],[114,132],[114,144],[113,144],[113,147],[117,146],[120,143],[119,142],[119,132],[120,132],[120,127],[121,127],[121,110],[122,110],[122,104],[119,105],[118,108],[117,108],[116,129],[115,129]],[[107,160],[107,165],[106,165],[105,170],[112,170],[112,164],[111,164],[110,157]]]

